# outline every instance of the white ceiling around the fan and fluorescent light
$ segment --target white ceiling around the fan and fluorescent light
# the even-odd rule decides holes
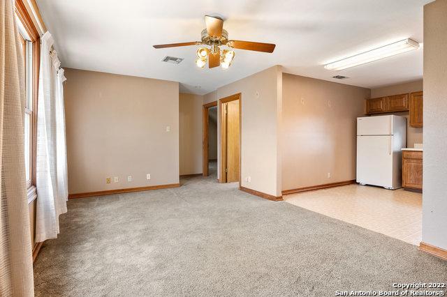
[[[38,0],[62,66],[180,82],[205,94],[274,65],[284,72],[375,88],[420,79],[423,50],[339,72],[323,64],[411,38],[423,43],[430,0]],[[196,46],[152,45],[200,40],[205,14],[221,15],[230,39],[277,45],[273,54],[236,50],[228,70],[195,66]],[[164,56],[184,58],[179,65]],[[334,75],[349,79],[332,79]],[[198,87],[200,86],[200,87]]]

